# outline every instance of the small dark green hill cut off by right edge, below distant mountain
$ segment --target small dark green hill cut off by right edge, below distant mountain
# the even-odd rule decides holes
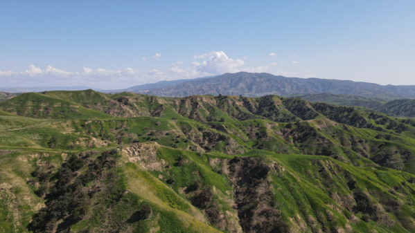
[[[394,100],[383,104],[376,110],[387,115],[415,118],[415,100]]]

